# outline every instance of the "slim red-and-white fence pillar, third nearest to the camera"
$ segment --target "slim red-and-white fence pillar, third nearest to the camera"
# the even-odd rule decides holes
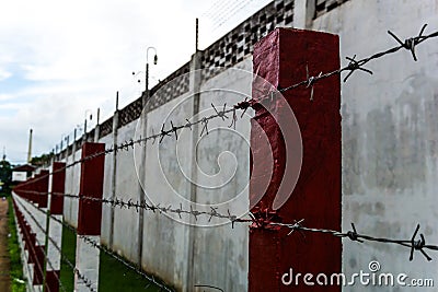
[[[66,185],[66,163],[54,162],[50,190],[50,217],[57,220],[50,220],[48,224],[48,236],[57,244],[62,244],[62,221],[64,213],[64,194]],[[51,265],[46,265],[46,291],[58,292],[60,279],[61,255],[54,244],[48,241],[47,256]]]

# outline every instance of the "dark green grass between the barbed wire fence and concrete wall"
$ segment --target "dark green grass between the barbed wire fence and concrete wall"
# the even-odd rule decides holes
[[[65,254],[74,265],[76,234],[67,227],[62,229],[62,254]],[[99,276],[99,291],[159,291],[157,285],[150,283],[136,271],[129,269],[124,264],[103,252],[101,252],[100,256]],[[65,262],[61,264],[60,278],[66,291],[73,291],[74,275],[71,268],[69,268]]]

